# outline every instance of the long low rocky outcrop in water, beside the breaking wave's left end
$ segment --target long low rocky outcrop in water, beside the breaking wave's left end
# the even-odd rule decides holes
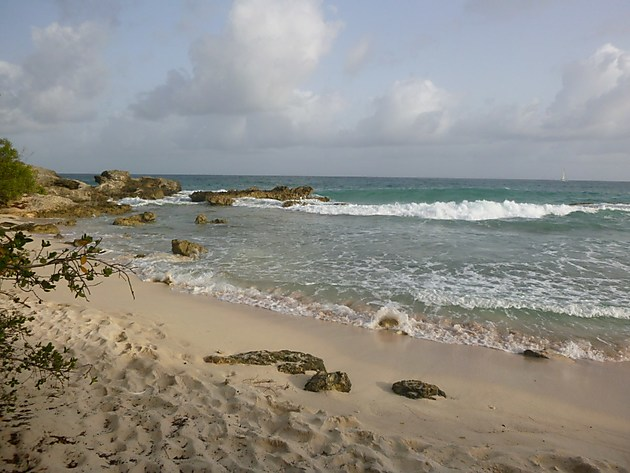
[[[226,192],[198,191],[190,196],[193,202],[208,202],[210,205],[232,205],[234,200],[251,197],[254,199],[273,199],[282,202],[292,202],[292,205],[304,199],[317,199],[328,202],[327,197],[313,195],[313,188],[309,186],[287,187],[277,186],[271,190],[260,190],[250,187],[244,190],[229,190]]]

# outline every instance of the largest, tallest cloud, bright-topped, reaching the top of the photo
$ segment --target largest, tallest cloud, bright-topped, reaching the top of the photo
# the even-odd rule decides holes
[[[339,28],[319,0],[237,0],[225,33],[190,48],[192,73],[170,71],[131,108],[146,119],[285,110]]]

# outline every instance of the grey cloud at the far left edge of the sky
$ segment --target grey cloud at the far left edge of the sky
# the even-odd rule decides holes
[[[33,28],[34,52],[22,64],[0,61],[0,125],[24,131],[86,120],[107,84],[104,31],[94,23]]]

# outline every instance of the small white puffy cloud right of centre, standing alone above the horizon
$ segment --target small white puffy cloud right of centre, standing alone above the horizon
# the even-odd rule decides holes
[[[449,129],[453,104],[454,98],[430,80],[396,81],[374,100],[374,113],[358,124],[358,138],[382,144],[434,139]]]

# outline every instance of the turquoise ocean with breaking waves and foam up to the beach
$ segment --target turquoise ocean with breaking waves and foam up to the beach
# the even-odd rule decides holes
[[[366,330],[394,318],[408,336],[443,343],[630,360],[630,183],[163,177],[184,190],[123,201],[155,223],[104,216],[71,231],[102,238],[109,257],[173,290]],[[309,185],[331,202],[211,207],[189,197],[276,185]],[[196,225],[200,213],[227,224]],[[175,256],[175,238],[208,253]]]

